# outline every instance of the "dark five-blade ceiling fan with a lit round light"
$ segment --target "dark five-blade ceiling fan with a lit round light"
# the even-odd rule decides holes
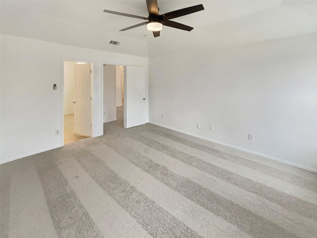
[[[139,18],[139,19],[143,19],[143,20],[149,20],[147,22],[142,22],[142,23],[136,24],[134,26],[124,28],[120,31],[126,31],[126,30],[130,30],[130,29],[133,29],[133,28],[136,28],[139,26],[147,25],[148,30],[153,32],[154,37],[158,37],[159,31],[162,29],[163,25],[177,28],[177,29],[181,29],[181,30],[185,30],[185,31],[193,30],[194,29],[193,27],[186,26],[186,25],[178,23],[178,22],[170,21],[169,19],[188,15],[188,14],[194,13],[196,11],[201,11],[201,10],[205,9],[203,4],[200,4],[200,5],[190,6],[190,7],[186,7],[183,9],[179,9],[176,11],[171,11],[171,12],[167,12],[167,13],[159,15],[158,1],[157,0],[146,0],[146,1],[147,1],[148,11],[149,11],[148,17],[136,16],[136,15],[126,14],[126,13],[122,13],[122,12],[110,11],[110,10],[104,10],[104,12],[116,14],[116,15],[121,15],[121,16]]]

